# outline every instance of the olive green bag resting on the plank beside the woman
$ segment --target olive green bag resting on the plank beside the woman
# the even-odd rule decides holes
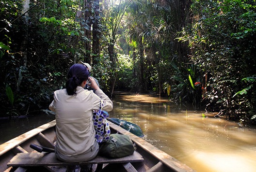
[[[135,147],[128,135],[111,134],[110,139],[100,145],[99,155],[121,158],[133,154]]]

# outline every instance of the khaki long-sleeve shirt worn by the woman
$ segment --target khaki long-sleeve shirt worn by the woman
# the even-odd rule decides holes
[[[113,103],[101,90],[95,93],[81,86],[77,94],[69,96],[66,89],[54,92],[54,100],[49,109],[56,113],[57,151],[65,156],[75,156],[86,152],[95,142],[93,110],[99,110],[101,99],[105,101],[102,110],[112,111]]]

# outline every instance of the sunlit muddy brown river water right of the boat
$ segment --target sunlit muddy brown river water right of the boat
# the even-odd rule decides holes
[[[256,129],[149,95],[117,95],[110,115],[136,123],[146,141],[197,172],[256,171]]]

